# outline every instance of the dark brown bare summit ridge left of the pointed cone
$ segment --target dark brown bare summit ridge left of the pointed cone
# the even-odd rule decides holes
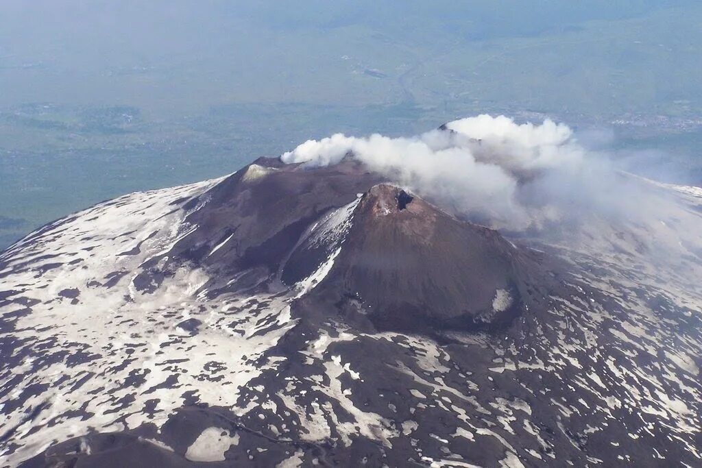
[[[216,273],[214,281],[227,279],[227,290],[256,286],[277,272],[312,222],[381,180],[354,161],[308,171],[277,159],[258,159],[188,201],[186,209],[205,207],[185,217],[196,228],[168,252],[165,268],[172,271],[192,262]],[[152,264],[159,260],[153,258]],[[236,281],[229,283],[232,276]]]

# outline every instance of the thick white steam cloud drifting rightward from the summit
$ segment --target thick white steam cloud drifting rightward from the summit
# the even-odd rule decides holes
[[[308,140],[281,159],[326,166],[347,154],[442,208],[492,227],[524,229],[583,208],[631,211],[631,183],[609,160],[578,144],[571,128],[545,120],[515,123],[486,114],[410,138],[337,133]]]

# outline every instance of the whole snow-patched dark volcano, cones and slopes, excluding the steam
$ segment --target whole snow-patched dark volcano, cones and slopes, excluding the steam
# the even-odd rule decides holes
[[[0,464],[702,463],[698,191],[512,243],[385,182],[261,159],[6,250]]]

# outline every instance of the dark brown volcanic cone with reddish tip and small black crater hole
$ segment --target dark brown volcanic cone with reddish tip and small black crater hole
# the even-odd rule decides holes
[[[497,232],[456,220],[392,185],[370,189],[352,216],[314,296],[345,298],[380,329],[503,326],[529,301],[527,279],[543,276]],[[291,271],[299,275],[299,262],[309,262],[315,250],[319,254],[315,246],[293,253],[284,280],[299,280]]]

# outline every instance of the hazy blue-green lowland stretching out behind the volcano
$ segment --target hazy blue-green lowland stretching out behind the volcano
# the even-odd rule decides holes
[[[309,138],[482,113],[549,117],[631,171],[698,183],[701,18],[689,0],[5,1],[0,246]]]

